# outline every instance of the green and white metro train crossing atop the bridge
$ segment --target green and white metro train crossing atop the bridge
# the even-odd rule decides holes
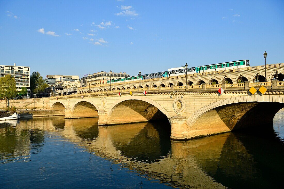
[[[120,79],[112,79],[112,80],[108,80],[107,83],[110,83],[110,82],[111,83],[122,83],[126,81],[139,81],[143,79],[170,77],[174,75],[184,75],[185,72],[187,72],[187,74],[195,74],[195,73],[212,72],[212,71],[219,71],[219,70],[231,70],[231,69],[237,69],[237,68],[245,68],[248,66],[249,66],[249,60],[237,60],[233,62],[223,62],[223,63],[218,63],[218,64],[210,64],[210,65],[192,67],[192,68],[187,68],[187,69],[185,67],[170,68],[168,69],[168,71],[164,71],[164,72],[124,77]]]

